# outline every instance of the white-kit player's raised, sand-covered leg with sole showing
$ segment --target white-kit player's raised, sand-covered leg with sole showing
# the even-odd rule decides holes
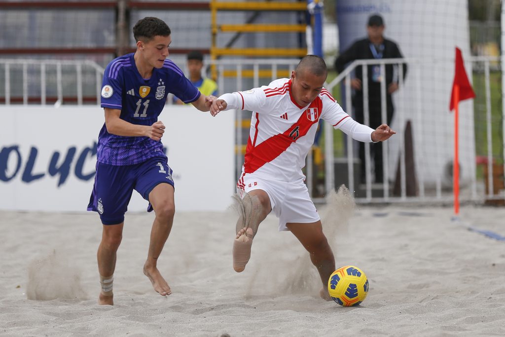
[[[233,269],[241,272],[249,262],[251,255],[252,239],[258,232],[260,222],[272,210],[270,198],[263,190],[254,190],[245,193],[240,199],[237,197],[240,216],[235,227],[236,236],[233,241]]]

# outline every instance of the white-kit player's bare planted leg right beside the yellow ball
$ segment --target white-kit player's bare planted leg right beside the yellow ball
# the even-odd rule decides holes
[[[287,223],[286,227],[294,234],[310,254],[312,264],[316,266],[323,288],[319,295],[326,301],[331,301],[328,294],[328,279],[335,271],[335,257],[323,234],[321,221],[313,223]]]

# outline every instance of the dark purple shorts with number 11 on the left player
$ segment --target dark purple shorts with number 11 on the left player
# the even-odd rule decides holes
[[[87,209],[98,212],[103,224],[122,223],[133,190],[149,201],[149,193],[161,183],[174,186],[167,158],[154,157],[125,166],[96,162],[95,181]],[[147,211],[152,210],[149,203]]]

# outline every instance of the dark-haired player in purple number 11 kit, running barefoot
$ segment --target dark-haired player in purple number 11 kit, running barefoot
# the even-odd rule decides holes
[[[113,60],[104,73],[101,106],[105,124],[98,135],[96,175],[88,205],[103,223],[96,254],[102,286],[98,304],[114,304],[116,252],[133,190],[149,202],[148,211],[156,214],[143,272],[160,295],[171,294],[157,268],[175,212],[172,169],[161,143],[165,126],[158,116],[169,92],[201,111],[209,111],[216,97],[200,94],[167,60],[170,33],[158,18],[139,20],[133,27],[137,50]]]

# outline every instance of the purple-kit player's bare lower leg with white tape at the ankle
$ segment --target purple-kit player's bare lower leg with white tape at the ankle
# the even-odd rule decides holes
[[[123,223],[104,224],[102,241],[98,246],[96,259],[102,291],[98,296],[98,304],[114,305],[112,293],[112,279],[116,268],[116,252],[123,237]]]

